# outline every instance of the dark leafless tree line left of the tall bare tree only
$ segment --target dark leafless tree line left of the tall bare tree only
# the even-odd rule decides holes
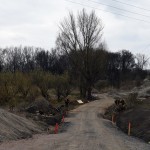
[[[52,73],[62,74],[67,67],[67,59],[60,56],[56,50],[51,52],[34,47],[9,47],[0,49],[0,71],[30,72],[42,69]]]

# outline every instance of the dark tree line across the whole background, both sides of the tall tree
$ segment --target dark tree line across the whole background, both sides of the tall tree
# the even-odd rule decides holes
[[[89,64],[82,62],[85,54],[80,54],[80,52],[76,56],[72,52],[62,54],[58,53],[56,49],[48,51],[33,47],[10,47],[1,49],[0,52],[1,75],[4,73],[15,75],[18,72],[22,75],[45,72],[54,76],[61,76],[67,72],[70,80],[72,80],[70,83],[79,87],[82,97],[87,96],[86,92],[89,90],[87,84],[90,84],[92,89],[98,80],[107,80],[111,86],[119,87],[121,82],[144,79],[147,75],[147,71],[143,70],[146,57],[143,61],[140,58],[144,55],[138,54],[136,57],[128,50],[109,52],[103,45],[89,52]]]

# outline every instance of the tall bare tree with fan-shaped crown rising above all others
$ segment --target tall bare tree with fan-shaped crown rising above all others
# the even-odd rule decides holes
[[[60,34],[56,44],[59,50],[67,54],[78,72],[80,86],[84,96],[91,91],[96,75],[100,71],[100,57],[97,51],[101,42],[103,25],[95,12],[88,14],[84,9],[75,17],[72,13],[60,24]],[[94,74],[95,73],[95,74]]]

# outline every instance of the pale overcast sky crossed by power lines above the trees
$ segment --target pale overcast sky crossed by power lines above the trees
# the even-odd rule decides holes
[[[97,16],[102,19],[104,24],[103,40],[107,43],[110,51],[127,49],[133,53],[145,53],[149,55],[149,0],[138,0],[138,2],[137,0],[118,0],[123,3],[149,9],[149,11],[124,5],[114,0],[70,1],[82,5],[65,0],[0,0],[0,47],[26,45],[51,49],[55,46],[59,23],[68,15],[69,11],[77,14],[78,11],[85,8],[90,12],[92,10],[90,7],[93,7]],[[112,7],[93,3],[92,1],[141,15],[117,10]],[[101,10],[119,13],[147,22],[129,19]]]

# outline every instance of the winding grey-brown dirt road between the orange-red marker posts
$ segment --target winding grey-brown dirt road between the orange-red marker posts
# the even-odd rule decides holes
[[[150,145],[128,137],[101,117],[104,108],[113,102],[102,96],[70,112],[65,119],[69,124],[66,131],[3,143],[0,150],[150,150]]]

